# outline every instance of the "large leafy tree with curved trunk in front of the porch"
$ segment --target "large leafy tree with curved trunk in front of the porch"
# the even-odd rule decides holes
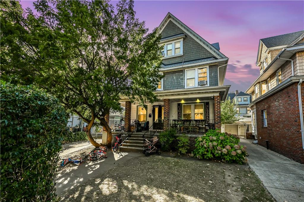
[[[161,79],[160,36],[135,18],[133,1],[36,1],[36,12],[1,1],[2,79],[33,83],[57,96],[86,123],[108,132],[104,117],[119,98],[154,102]]]

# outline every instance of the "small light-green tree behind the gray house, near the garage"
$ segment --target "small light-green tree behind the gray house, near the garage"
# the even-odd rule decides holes
[[[233,99],[232,102],[230,97],[221,103],[221,123],[235,123],[240,120],[240,116],[237,113],[237,109],[234,107],[237,103]]]

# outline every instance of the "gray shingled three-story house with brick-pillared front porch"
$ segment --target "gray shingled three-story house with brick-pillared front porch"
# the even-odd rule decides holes
[[[149,121],[150,130],[204,133],[221,127],[220,103],[230,86],[224,86],[228,58],[219,51],[219,43],[210,44],[171,13],[159,25],[163,60],[155,94],[157,103],[125,102],[125,128],[138,120]]]

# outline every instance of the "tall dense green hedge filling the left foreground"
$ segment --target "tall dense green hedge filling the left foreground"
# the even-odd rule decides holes
[[[56,200],[54,180],[67,114],[33,86],[1,82],[1,201]]]

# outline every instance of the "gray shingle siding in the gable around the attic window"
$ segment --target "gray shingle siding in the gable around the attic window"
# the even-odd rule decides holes
[[[185,33],[182,29],[180,29],[174,22],[169,21],[166,27],[161,32],[162,38],[184,33],[186,38],[183,40],[183,55],[177,56],[173,58],[163,59],[163,63],[165,65],[170,63],[189,61],[195,59],[202,59],[212,57],[212,53],[210,53],[207,49],[205,49],[202,45],[200,45],[197,41],[195,41],[191,36]]]

